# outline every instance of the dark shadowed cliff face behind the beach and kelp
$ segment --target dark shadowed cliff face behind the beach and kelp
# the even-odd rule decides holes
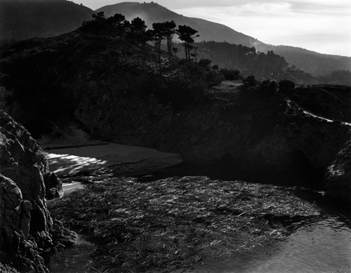
[[[126,107],[128,105],[128,107]],[[282,174],[303,183],[318,180],[348,138],[350,124],[304,111],[281,95],[213,93],[183,111],[152,100],[127,102],[118,91],[88,93],[76,116],[99,138],[161,151],[178,152],[186,161],[227,161],[227,168]],[[114,116],[114,118],[113,118]]]

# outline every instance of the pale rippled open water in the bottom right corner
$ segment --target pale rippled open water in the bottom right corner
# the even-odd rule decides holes
[[[292,225],[296,232],[283,241],[270,241],[252,253],[237,254],[223,261],[206,259],[204,265],[194,270],[173,272],[351,272],[349,220],[324,215]]]

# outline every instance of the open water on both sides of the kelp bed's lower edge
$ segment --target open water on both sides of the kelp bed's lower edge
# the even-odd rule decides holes
[[[330,210],[328,210],[330,211]],[[351,221],[338,213],[293,217],[286,222],[293,233],[284,240],[269,241],[252,252],[226,260],[205,258],[197,269],[167,268],[148,272],[191,273],[340,273],[351,272]],[[80,239],[77,246],[55,255],[52,273],[95,272],[89,267],[93,244]],[[113,272],[113,271],[110,271]],[[117,270],[118,272],[118,270]]]

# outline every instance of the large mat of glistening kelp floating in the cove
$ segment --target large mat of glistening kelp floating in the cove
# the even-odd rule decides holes
[[[289,231],[274,216],[317,215],[282,187],[204,176],[107,178],[48,204],[95,244],[87,271],[192,268]]]

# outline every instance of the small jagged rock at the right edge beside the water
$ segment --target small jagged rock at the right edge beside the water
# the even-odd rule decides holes
[[[351,140],[326,168],[326,196],[351,203]]]

